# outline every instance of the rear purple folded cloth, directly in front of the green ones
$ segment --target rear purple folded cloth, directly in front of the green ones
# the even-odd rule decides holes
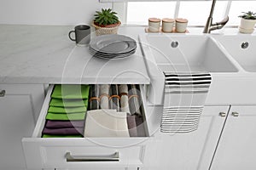
[[[84,127],[84,121],[51,121],[46,120],[47,128],[64,128],[64,127]]]

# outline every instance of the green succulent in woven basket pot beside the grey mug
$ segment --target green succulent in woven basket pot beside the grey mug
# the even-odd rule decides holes
[[[96,28],[96,36],[104,34],[117,34],[121,24],[116,12],[111,8],[102,8],[102,11],[96,11],[92,26]]]

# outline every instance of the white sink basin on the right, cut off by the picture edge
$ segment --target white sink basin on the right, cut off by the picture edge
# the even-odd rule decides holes
[[[256,72],[256,37],[250,35],[216,37],[245,71]],[[243,48],[241,47],[243,46]]]

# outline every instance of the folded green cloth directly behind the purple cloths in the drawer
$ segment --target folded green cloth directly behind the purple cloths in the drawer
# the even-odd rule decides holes
[[[55,121],[76,121],[76,120],[84,120],[85,112],[81,113],[73,113],[73,114],[66,114],[66,113],[50,113],[48,112],[45,119],[47,120],[55,120]]]

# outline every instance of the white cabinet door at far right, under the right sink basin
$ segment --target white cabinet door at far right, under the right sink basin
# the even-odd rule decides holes
[[[256,169],[256,105],[232,106],[211,170]]]

